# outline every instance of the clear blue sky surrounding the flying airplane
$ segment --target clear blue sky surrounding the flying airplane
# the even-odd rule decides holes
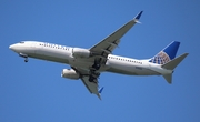
[[[199,122],[200,2],[198,0],[1,0],[1,122]],[[171,41],[178,55],[173,83],[162,77],[102,73],[102,101],[80,80],[60,77],[67,64],[30,59],[9,50],[21,40],[90,48],[143,10],[114,54],[151,58]]]

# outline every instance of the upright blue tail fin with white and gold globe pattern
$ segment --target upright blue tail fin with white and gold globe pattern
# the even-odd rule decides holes
[[[179,49],[180,42],[173,41],[168,47],[166,47],[162,51],[160,51],[157,55],[151,58],[149,62],[157,64],[166,64],[176,58],[177,51]]]

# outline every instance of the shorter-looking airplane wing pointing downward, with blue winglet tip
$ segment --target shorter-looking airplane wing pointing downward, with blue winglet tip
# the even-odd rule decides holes
[[[87,71],[84,69],[80,69],[80,68],[74,68],[74,67],[72,67],[72,69],[81,74],[81,80],[82,80],[83,84],[86,85],[86,88],[89,90],[89,92],[98,95],[98,98],[101,100],[101,92],[102,92],[103,88],[99,89],[98,79],[96,78],[93,80],[94,82],[90,82],[89,78],[91,74],[89,71]]]

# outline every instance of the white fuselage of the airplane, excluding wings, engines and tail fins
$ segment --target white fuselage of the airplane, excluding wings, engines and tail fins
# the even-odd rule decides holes
[[[73,48],[71,47],[24,41],[10,45],[10,49],[30,58],[67,63],[82,69],[89,69],[93,64],[92,58],[74,58]],[[128,75],[161,75],[172,72],[171,70],[162,69],[160,64],[149,62],[149,60],[137,60],[113,54],[109,54],[106,64],[99,69],[99,72],[103,71]]]

